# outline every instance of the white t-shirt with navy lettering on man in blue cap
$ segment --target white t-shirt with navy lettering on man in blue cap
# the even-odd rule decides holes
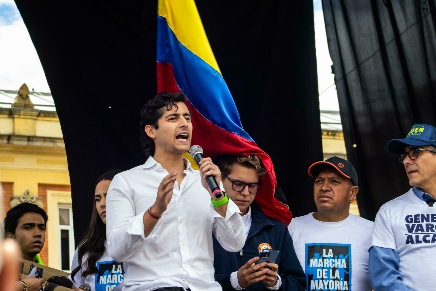
[[[394,249],[402,281],[411,290],[434,290],[436,207],[416,197],[413,188],[378,210],[371,246]]]

